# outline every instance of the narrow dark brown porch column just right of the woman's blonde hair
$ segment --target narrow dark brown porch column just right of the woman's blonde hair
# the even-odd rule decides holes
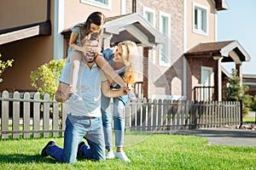
[[[143,48],[143,98],[148,99],[148,47]]]

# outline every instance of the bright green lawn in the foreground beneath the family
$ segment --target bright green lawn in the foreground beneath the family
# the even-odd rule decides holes
[[[75,164],[40,156],[49,139],[0,140],[1,169],[256,169],[256,147],[210,145],[206,139],[170,134],[125,134],[131,163],[79,159]],[[63,144],[63,138],[56,138]]]

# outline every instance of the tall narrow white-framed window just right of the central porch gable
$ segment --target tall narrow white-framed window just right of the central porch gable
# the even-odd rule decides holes
[[[160,32],[166,37],[166,43],[160,44],[160,65],[171,66],[171,14],[160,12]]]

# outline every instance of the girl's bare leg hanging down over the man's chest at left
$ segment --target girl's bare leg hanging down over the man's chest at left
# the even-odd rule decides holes
[[[71,62],[71,83],[70,86],[77,89],[77,83],[79,79],[79,67],[80,62],[82,60],[81,52],[74,51],[70,54],[70,62]]]

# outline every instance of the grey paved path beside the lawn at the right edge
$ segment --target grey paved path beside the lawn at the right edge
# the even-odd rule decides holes
[[[201,136],[207,139],[209,144],[256,147],[255,130],[219,127],[178,130],[176,134]]]

